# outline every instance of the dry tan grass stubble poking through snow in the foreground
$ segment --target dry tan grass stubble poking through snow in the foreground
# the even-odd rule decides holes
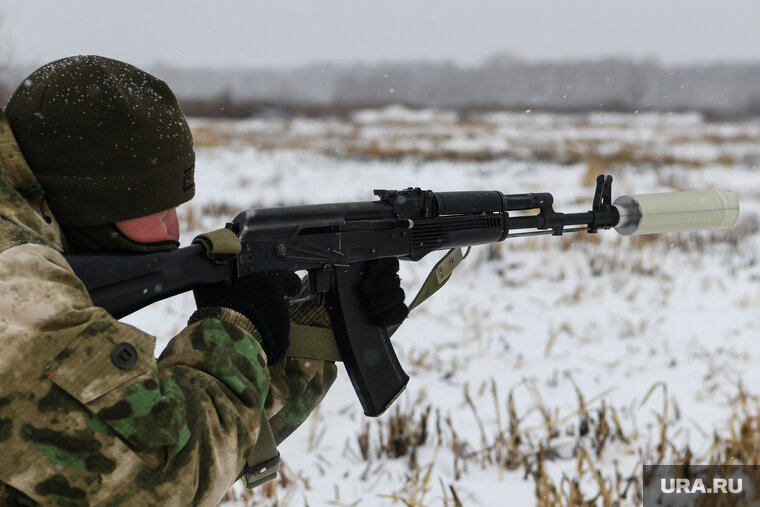
[[[572,382],[572,378],[568,380]],[[535,390],[529,382],[524,387]],[[492,394],[497,414],[493,435],[489,435],[482,424],[478,405],[470,397],[469,389],[463,392],[465,403],[478,422],[477,443],[468,441],[451,417],[437,411],[435,424],[431,425],[433,409],[429,404],[421,412],[416,405],[405,409],[397,406],[393,415],[382,422],[362,423],[355,445],[367,462],[363,478],[368,481],[391,479],[383,470],[382,462],[403,459],[407,461],[408,470],[403,481],[394,492],[381,497],[407,507],[440,505],[440,502],[447,507],[459,507],[466,505],[467,499],[461,497],[456,481],[465,475],[485,469],[521,470],[521,475],[534,484],[539,507],[615,507],[641,504],[643,487],[651,479],[641,475],[643,464],[677,465],[687,471],[690,465],[697,463],[717,466],[760,462],[760,404],[742,384],[738,385],[732,402],[729,431],[725,435],[716,433],[712,447],[702,456],[695,456],[688,446],[681,448],[674,443],[680,431],[680,411],[662,382],[652,385],[640,403],[640,406],[647,405],[658,393],[662,403],[661,409],[656,411],[658,427],[654,438],[644,444],[635,429],[624,428],[620,414],[609,407],[603,397],[589,401],[577,386],[577,409],[561,416],[557,410],[543,405],[535,391],[533,410],[539,411],[544,419],[539,427],[525,425],[529,412],[518,413],[514,388],[504,400],[495,380],[489,382],[487,389]],[[572,439],[569,447],[567,437]],[[417,456],[423,449],[432,451],[432,459],[419,463]],[[637,455],[639,459],[630,469],[621,469],[614,459],[621,452]],[[454,459],[454,476],[449,484],[435,473],[436,464],[444,454]],[[559,479],[550,474],[547,465],[555,460],[573,460],[573,473],[563,473]],[[283,465],[276,481],[253,491],[230,491],[225,501],[246,506],[287,506],[295,501],[296,486],[310,489],[308,479],[295,476]],[[435,492],[438,496],[434,499]],[[360,502],[342,501],[336,486],[335,500],[331,503],[351,506]]]

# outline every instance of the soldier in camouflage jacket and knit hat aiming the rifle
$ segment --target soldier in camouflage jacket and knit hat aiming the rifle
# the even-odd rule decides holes
[[[123,62],[71,57],[32,73],[5,114],[0,503],[216,505],[241,476],[272,478],[275,445],[336,375],[285,357],[291,319],[330,326],[316,302],[288,307],[298,278],[196,290],[198,310],[155,359],[155,338],[94,307],[61,255],[177,248],[195,156],[171,90]],[[386,324],[407,313],[397,270],[378,264],[364,282]]]

